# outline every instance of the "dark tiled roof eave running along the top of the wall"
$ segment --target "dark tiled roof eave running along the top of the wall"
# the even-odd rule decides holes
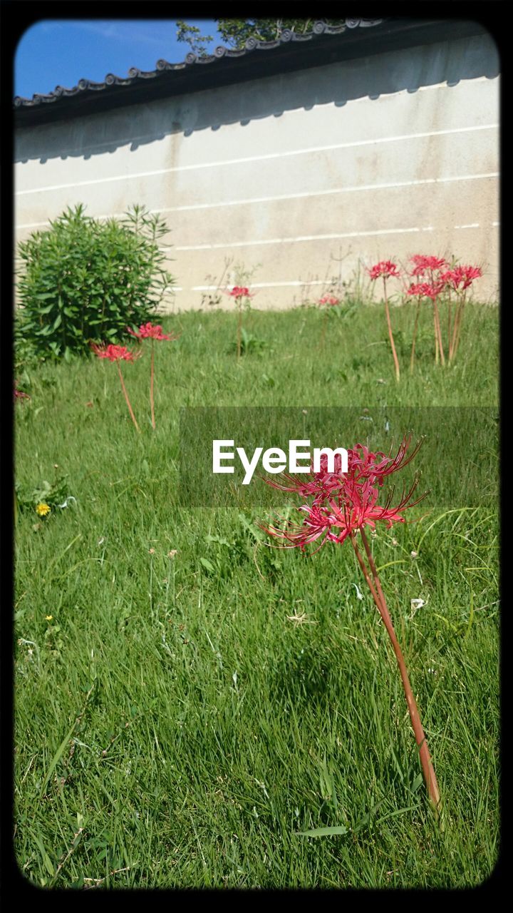
[[[270,42],[252,50],[226,54],[194,63],[167,65],[127,79],[112,77],[104,83],[75,87],[71,95],[39,96],[37,104],[22,103],[15,108],[17,127],[33,126],[112,108],[145,104],[186,93],[215,89],[250,79],[265,79],[298,69],[328,66],[341,60],[364,57],[403,47],[431,44],[434,41],[483,34],[485,29],[471,20],[388,19],[376,26],[346,28],[340,34],[312,35],[309,39]],[[107,80],[109,78],[106,78]],[[115,80],[115,81],[113,81]]]

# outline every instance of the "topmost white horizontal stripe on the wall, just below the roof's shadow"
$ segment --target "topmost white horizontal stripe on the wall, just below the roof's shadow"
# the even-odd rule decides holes
[[[404,142],[405,140],[420,140],[431,136],[449,136],[455,133],[469,133],[480,130],[495,130],[497,123],[481,124],[473,127],[455,127],[452,130],[435,130],[423,133],[403,133],[400,136],[383,136],[374,140],[356,140],[354,142],[339,142],[327,146],[310,146],[308,149],[296,149],[289,152],[269,152],[266,155],[251,155],[240,159],[225,159],[221,162],[204,162],[195,165],[178,165],[174,168],[160,168],[156,171],[138,172],[132,174],[117,174],[113,177],[100,177],[92,181],[76,181],[71,184],[52,184],[48,187],[34,187],[31,190],[17,190],[16,196],[26,194],[45,194],[55,190],[67,190],[75,187],[87,187],[94,184],[111,184],[114,181],[133,181],[141,177],[155,177],[159,174],[173,172],[196,171],[201,168],[217,168],[224,165],[235,165],[246,162],[264,162],[269,159],[283,159],[292,155],[307,155],[311,152],[330,152],[337,149],[353,149],[357,146],[372,146],[382,142]]]

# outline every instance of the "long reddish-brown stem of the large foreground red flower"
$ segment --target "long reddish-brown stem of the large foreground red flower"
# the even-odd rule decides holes
[[[425,740],[424,729],[422,727],[420,714],[419,714],[419,711],[418,711],[418,708],[417,708],[417,705],[415,702],[414,692],[412,690],[412,686],[410,685],[410,679],[408,677],[408,672],[406,670],[406,664],[404,663],[403,652],[401,650],[401,646],[399,645],[399,641],[397,640],[397,636],[395,635],[392,618],[391,618],[390,612],[388,611],[387,604],[385,602],[378,571],[377,571],[376,565],[374,563],[374,559],[372,558],[372,551],[369,547],[369,542],[367,540],[364,530],[361,530],[361,540],[363,542],[363,546],[364,546],[366,554],[367,554],[367,559],[368,559],[369,565],[371,567],[373,582],[371,580],[371,574],[369,573],[369,570],[366,567],[365,562],[363,561],[363,558],[361,556],[361,552],[358,549],[358,546],[354,539],[354,535],[351,536],[351,544],[355,551],[358,562],[360,564],[361,571],[363,572],[363,576],[365,577],[365,580],[369,586],[369,589],[371,590],[374,603],[376,603],[378,611],[382,616],[382,620],[386,627],[387,633],[392,641],[393,652],[395,653],[395,657],[397,659],[397,664],[399,666],[399,671],[401,673],[401,679],[403,681],[404,696],[406,698],[406,703],[408,705],[408,711],[410,713],[410,719],[412,721],[412,726],[414,729],[415,740],[416,740],[417,746],[419,748],[419,757],[420,757],[420,761],[421,761],[421,765],[422,765],[422,769],[423,769],[423,773],[424,773],[424,780],[425,780],[425,784],[427,787],[427,793],[428,793],[430,802],[433,803],[436,814],[438,815],[438,806],[440,803],[440,792],[438,789],[438,783],[436,781],[436,776],[434,773],[433,762],[431,761],[431,755],[430,755],[428,747],[427,747],[427,741]]]

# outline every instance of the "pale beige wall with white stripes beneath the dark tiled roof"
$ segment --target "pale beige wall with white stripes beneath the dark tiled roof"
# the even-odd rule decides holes
[[[484,35],[20,129],[16,237],[146,205],[172,228],[173,310],[226,258],[260,264],[258,308],[415,253],[484,264],[497,299],[498,68]]]

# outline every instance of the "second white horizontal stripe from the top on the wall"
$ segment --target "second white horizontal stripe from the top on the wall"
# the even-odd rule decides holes
[[[300,200],[307,197],[313,196],[330,196],[330,194],[352,194],[352,193],[363,193],[366,191],[372,190],[389,190],[398,187],[417,187],[424,184],[451,184],[458,181],[482,181],[487,180],[488,178],[495,178],[499,176],[499,172],[485,172],[482,174],[456,174],[452,177],[427,177],[422,178],[418,181],[391,181],[385,184],[355,184],[353,187],[334,187],[330,190],[314,190],[309,191],[304,194],[279,194],[277,196],[254,196],[248,197],[246,200],[230,200],[228,202],[222,203],[198,203],[190,206],[166,206],[162,209],[151,209],[150,213],[173,213],[173,212],[185,212],[189,210],[197,209],[218,209],[225,206],[236,206],[236,205],[253,205],[257,203],[274,203],[280,200]],[[98,219],[111,219],[119,218],[124,213],[112,213],[110,215],[97,215],[95,216]],[[16,226],[17,228],[39,228],[41,226],[48,225],[48,222],[27,222],[23,225]],[[459,226],[455,226],[459,227]]]

